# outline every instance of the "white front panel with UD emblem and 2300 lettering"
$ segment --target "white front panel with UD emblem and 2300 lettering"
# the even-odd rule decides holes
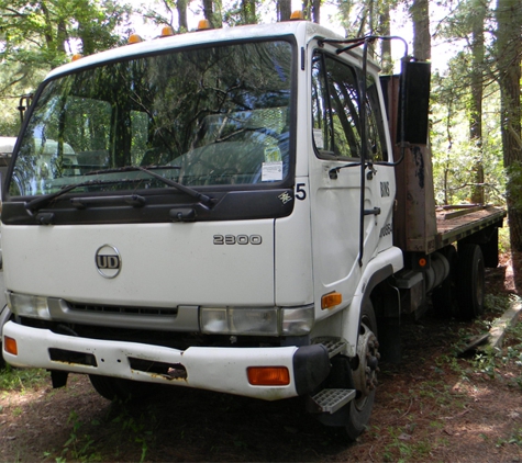
[[[73,229],[74,228],[74,229]],[[275,304],[274,221],[2,226],[5,287],[85,304]]]

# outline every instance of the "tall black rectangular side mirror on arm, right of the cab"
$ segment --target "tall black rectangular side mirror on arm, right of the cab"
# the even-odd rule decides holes
[[[397,124],[397,139],[402,138],[412,145],[427,143],[427,112],[430,109],[430,78],[431,64],[423,61],[402,61],[399,124]],[[404,92],[404,102],[402,102]],[[401,110],[404,111],[403,118]],[[402,127],[402,121],[404,126]]]

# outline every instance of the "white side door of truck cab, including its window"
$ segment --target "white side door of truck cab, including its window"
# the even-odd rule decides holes
[[[379,244],[382,194],[390,194],[389,183],[379,179],[382,168],[371,163],[387,158],[384,128],[374,111],[379,108],[376,79],[366,76],[363,131],[364,77],[355,63],[324,49],[312,58],[310,190],[316,303],[331,291],[341,292],[343,303],[352,300],[362,269]]]

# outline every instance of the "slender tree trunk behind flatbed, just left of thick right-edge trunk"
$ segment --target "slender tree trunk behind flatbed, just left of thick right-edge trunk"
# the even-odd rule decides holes
[[[469,139],[478,149],[474,165],[474,187],[471,202],[484,204],[484,165],[482,165],[482,93],[484,93],[484,21],[486,2],[473,1],[471,18],[471,99],[469,102]]]

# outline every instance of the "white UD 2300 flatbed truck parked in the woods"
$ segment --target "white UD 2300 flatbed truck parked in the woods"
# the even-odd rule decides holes
[[[381,81],[374,39],[295,21],[53,70],[2,191],[5,361],[109,399],[306,396],[355,439],[401,317],[480,313],[506,215],[437,213],[429,65]]]

